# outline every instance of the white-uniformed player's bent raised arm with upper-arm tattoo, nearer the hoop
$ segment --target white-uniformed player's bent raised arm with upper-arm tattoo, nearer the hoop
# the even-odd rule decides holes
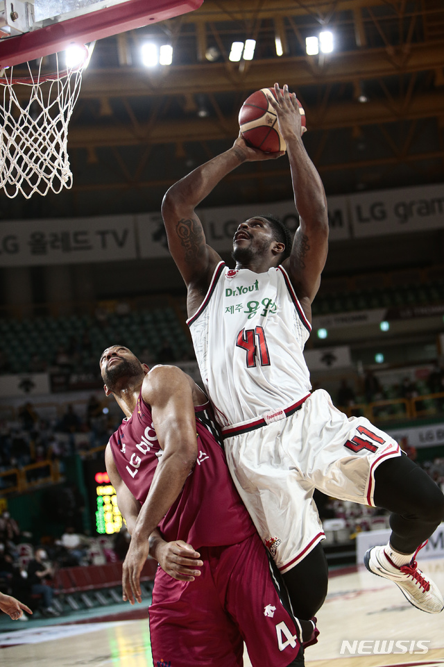
[[[232,148],[197,167],[171,188],[162,202],[162,216],[167,229],[168,245],[187,286],[209,284],[219,255],[205,240],[195,208],[224,176],[241,163],[269,160],[281,154],[266,154],[252,149],[238,137]]]

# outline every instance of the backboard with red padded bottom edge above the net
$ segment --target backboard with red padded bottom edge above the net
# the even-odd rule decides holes
[[[203,0],[0,0],[0,67],[191,12]]]

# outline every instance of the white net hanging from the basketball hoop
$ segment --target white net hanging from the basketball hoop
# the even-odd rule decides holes
[[[12,199],[51,189],[71,188],[67,153],[68,124],[80,92],[80,67],[14,79],[12,67],[0,71],[0,188]],[[3,90],[1,90],[3,89]]]

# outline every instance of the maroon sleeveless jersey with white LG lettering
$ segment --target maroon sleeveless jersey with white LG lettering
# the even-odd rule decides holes
[[[194,411],[198,458],[159,528],[168,542],[183,540],[195,549],[235,544],[252,535],[255,527],[230,477],[210,404]],[[142,395],[130,418],[112,434],[110,446],[121,479],[143,504],[163,451]]]

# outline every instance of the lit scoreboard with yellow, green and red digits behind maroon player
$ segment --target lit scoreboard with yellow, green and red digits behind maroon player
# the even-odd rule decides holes
[[[122,527],[117,495],[103,461],[84,461],[85,483],[92,508],[92,528],[98,535],[113,535]]]

